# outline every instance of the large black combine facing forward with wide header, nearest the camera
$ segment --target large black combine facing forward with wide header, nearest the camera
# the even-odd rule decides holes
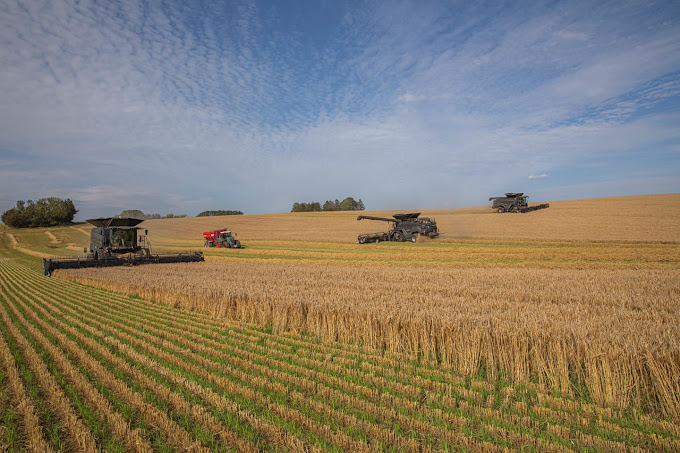
[[[78,269],[83,267],[132,266],[150,263],[189,263],[204,261],[202,252],[176,255],[153,255],[148,240],[148,230],[139,234],[138,227],[144,220],[130,217],[107,217],[90,219],[90,251],[82,258],[43,259],[46,276],[55,269]],[[87,252],[87,248],[84,250]]]

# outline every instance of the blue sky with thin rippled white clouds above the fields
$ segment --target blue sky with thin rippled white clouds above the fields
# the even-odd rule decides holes
[[[680,192],[680,2],[0,0],[0,211]]]

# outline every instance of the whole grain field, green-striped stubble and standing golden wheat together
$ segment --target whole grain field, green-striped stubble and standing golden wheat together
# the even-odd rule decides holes
[[[0,449],[678,451],[680,196],[562,203],[429,213],[418,244],[352,244],[383,225],[348,213],[145,222],[246,248],[52,279],[2,234]]]

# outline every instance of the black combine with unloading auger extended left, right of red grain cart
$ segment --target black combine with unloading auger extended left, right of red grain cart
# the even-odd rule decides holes
[[[430,238],[439,236],[437,222],[428,217],[420,217],[419,212],[394,214],[392,217],[392,219],[367,215],[360,215],[357,217],[357,220],[367,219],[390,222],[389,231],[359,235],[359,244],[380,241],[417,242],[420,235],[425,235]]]

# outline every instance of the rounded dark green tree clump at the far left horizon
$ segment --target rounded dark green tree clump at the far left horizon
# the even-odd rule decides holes
[[[52,227],[73,222],[78,210],[68,198],[49,197],[38,201],[17,201],[16,207],[2,214],[3,223],[12,228]]]

